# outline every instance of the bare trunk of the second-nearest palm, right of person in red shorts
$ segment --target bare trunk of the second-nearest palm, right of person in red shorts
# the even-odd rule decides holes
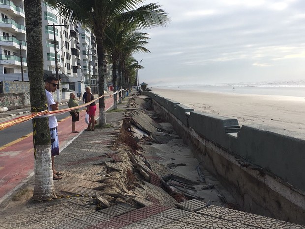
[[[104,65],[104,45],[102,33],[96,33],[96,46],[97,46],[97,62],[98,62],[98,96],[104,95],[105,88],[105,65]],[[99,99],[99,125],[105,126],[106,112],[105,112],[105,97]]]

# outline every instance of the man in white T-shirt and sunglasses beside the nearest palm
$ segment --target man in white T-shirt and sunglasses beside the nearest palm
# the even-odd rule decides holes
[[[48,110],[58,110],[58,102],[54,101],[53,95],[51,92],[55,92],[58,86],[58,80],[54,76],[49,76],[46,79],[45,92],[47,96]],[[58,132],[57,132],[57,119],[55,116],[49,117],[49,128],[51,134],[51,159],[52,159],[52,171],[53,171],[53,180],[60,180],[62,173],[58,172],[54,168],[54,157],[60,154]]]

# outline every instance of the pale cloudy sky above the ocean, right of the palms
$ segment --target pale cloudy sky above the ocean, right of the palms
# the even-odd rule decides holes
[[[133,56],[149,86],[305,80],[305,0],[159,0],[171,18]],[[142,60],[142,61],[141,61]]]

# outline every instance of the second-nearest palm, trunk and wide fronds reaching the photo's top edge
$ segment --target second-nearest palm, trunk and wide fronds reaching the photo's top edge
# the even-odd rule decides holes
[[[169,17],[157,4],[138,4],[144,0],[45,0],[57,8],[61,16],[70,18],[72,22],[83,23],[91,28],[96,36],[98,61],[99,96],[104,95],[104,43],[106,26],[113,20],[128,23],[137,20],[137,29],[146,29],[155,26],[165,26]],[[99,124],[106,124],[105,99],[99,100]]]

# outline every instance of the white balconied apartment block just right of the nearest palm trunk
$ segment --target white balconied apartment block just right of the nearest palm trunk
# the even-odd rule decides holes
[[[58,15],[58,11],[42,3],[42,42],[44,69],[55,74],[56,58],[58,73],[62,78],[77,77],[77,69],[80,68],[78,26]],[[54,45],[56,41],[56,47]]]

